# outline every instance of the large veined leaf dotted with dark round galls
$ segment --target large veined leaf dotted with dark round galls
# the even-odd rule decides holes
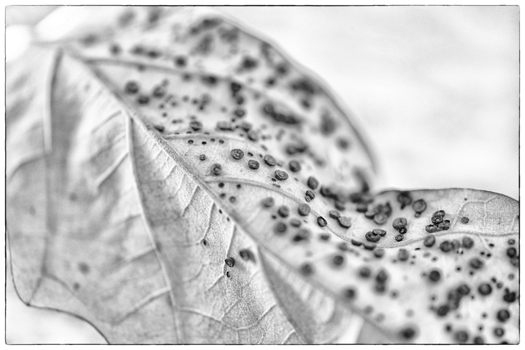
[[[217,15],[122,10],[43,33],[74,18],[52,14],[39,27],[53,41],[7,73],[22,300],[80,315],[111,343],[335,342],[361,325],[354,314],[375,338],[362,342],[519,342],[515,200],[372,196],[373,162],[337,102],[270,45]],[[427,247],[438,210],[450,226]]]

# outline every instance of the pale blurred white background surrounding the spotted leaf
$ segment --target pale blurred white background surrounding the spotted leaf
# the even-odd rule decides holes
[[[378,186],[518,199],[518,6],[220,9],[314,71],[354,112],[380,165]],[[24,18],[8,8],[7,24]],[[9,277],[6,309],[8,344],[104,342],[73,317],[26,307]]]

